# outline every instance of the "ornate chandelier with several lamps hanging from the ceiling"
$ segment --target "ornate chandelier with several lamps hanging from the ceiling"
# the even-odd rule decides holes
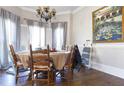
[[[55,9],[50,10],[49,6],[44,6],[44,7],[40,6],[36,11],[37,11],[37,16],[40,18],[42,22],[44,21],[51,22],[51,19],[56,15],[56,10]]]

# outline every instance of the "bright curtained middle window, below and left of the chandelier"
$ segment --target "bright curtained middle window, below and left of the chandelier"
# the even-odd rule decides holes
[[[33,20],[27,20],[28,29],[30,32],[30,43],[33,49],[42,48],[45,46],[45,25]]]

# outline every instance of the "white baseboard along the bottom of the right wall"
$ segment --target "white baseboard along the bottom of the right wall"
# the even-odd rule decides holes
[[[124,79],[124,69],[99,64],[96,62],[92,63],[92,68]]]

